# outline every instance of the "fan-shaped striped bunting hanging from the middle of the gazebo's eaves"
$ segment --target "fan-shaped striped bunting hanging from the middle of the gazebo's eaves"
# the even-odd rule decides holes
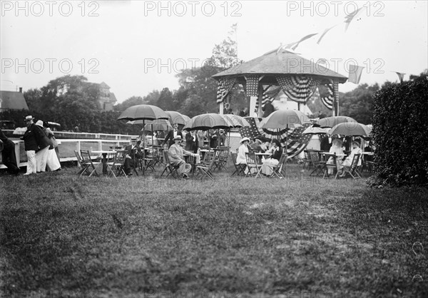
[[[292,101],[306,104],[318,86],[315,78],[305,75],[276,76],[278,84]]]

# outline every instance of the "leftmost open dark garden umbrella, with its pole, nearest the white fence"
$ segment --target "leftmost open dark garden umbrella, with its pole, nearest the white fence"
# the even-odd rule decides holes
[[[143,120],[143,128],[146,120],[165,119],[168,120],[168,115],[157,106],[137,105],[130,106],[116,120]],[[144,132],[143,132],[144,135]],[[143,158],[146,159],[146,138],[143,138]],[[144,167],[143,167],[144,175]]]

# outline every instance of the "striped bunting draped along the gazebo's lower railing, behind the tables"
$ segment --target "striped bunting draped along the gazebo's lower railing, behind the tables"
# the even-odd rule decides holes
[[[247,126],[240,129],[240,134],[243,138],[255,138],[258,135],[262,135],[270,140],[272,140],[272,138],[279,139],[282,146],[285,146],[285,140],[287,139],[288,158],[299,155],[306,148],[312,138],[312,135],[310,134],[303,134],[303,131],[311,125],[310,123],[306,123],[297,128],[288,128],[287,136],[287,128],[275,131],[272,129],[260,128],[259,118],[245,117],[245,120],[250,123],[250,127]]]

